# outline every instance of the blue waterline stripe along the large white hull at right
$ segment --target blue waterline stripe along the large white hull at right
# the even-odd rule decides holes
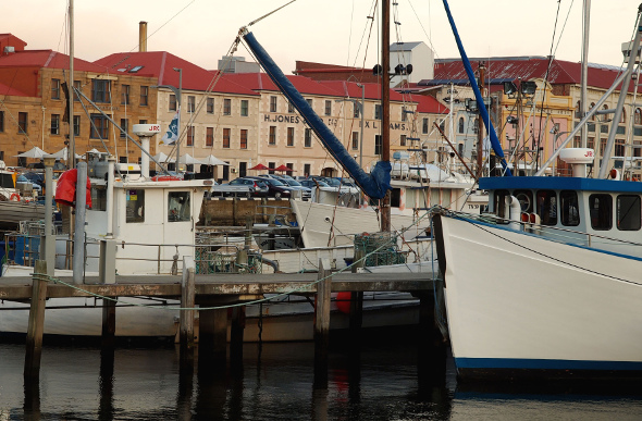
[[[458,369],[469,370],[592,370],[592,371],[642,371],[639,361],[579,361],[538,360],[514,358],[455,358]]]

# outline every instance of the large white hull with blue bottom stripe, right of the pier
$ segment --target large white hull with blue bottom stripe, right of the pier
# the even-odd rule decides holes
[[[460,375],[642,373],[642,261],[441,221],[448,330]]]

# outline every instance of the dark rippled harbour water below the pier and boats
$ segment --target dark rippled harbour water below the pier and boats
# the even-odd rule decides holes
[[[24,345],[0,345],[1,420],[640,420],[640,387],[581,392],[457,385],[418,371],[412,344],[365,345],[360,358],[332,350],[314,379],[313,344],[246,344],[242,367],[181,376],[173,346],[100,349],[49,346],[39,387],[25,387]],[[109,359],[103,359],[104,362]]]

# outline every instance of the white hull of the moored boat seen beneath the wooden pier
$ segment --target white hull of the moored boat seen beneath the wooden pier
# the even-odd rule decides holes
[[[386,299],[387,298],[387,299]],[[123,298],[124,302],[146,307],[116,308],[118,337],[173,338],[178,331],[180,304],[168,300],[165,306],[149,308],[153,302],[141,298]],[[363,327],[385,327],[417,324],[419,306],[409,294],[367,293],[363,302]],[[47,301],[45,334],[76,337],[99,337],[102,332],[102,299],[53,298]],[[164,307],[164,308],[163,308]],[[169,308],[168,308],[169,307]],[[266,304],[262,308],[262,330],[259,329],[259,306],[247,307],[245,342],[312,340],[313,308],[300,297],[283,304]],[[0,301],[0,334],[24,335],[28,325],[29,305]],[[198,324],[197,324],[198,327]],[[333,305],[331,329],[348,327],[348,315]],[[196,331],[198,335],[198,331]]]

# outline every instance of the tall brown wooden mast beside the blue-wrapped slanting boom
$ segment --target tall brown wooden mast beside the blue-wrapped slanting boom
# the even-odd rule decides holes
[[[381,75],[381,141],[382,154],[381,160],[390,162],[390,0],[384,0],[381,3],[381,65],[383,72]],[[387,232],[391,230],[391,193],[386,191],[385,197],[381,200],[381,231]]]

